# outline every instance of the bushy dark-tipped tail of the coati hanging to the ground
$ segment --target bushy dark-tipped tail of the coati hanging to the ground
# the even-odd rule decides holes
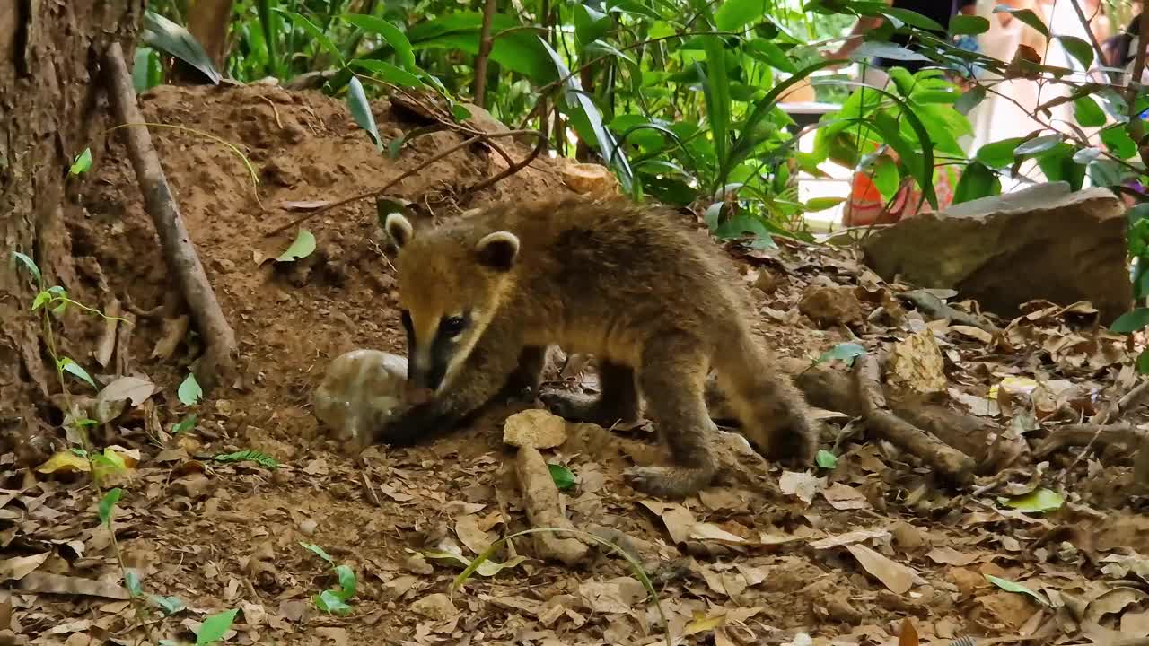
[[[810,464],[818,451],[818,429],[805,399],[754,337],[740,332],[737,343],[719,349],[714,367],[742,432],[769,460]]]

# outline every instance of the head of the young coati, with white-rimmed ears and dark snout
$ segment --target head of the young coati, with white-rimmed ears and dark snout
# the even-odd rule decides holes
[[[449,225],[416,237],[398,213],[385,229],[400,249],[408,394],[418,401],[446,387],[475,348],[507,291],[519,243],[509,231],[476,239]]]

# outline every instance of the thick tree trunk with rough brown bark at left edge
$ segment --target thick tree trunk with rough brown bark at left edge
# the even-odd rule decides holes
[[[46,285],[102,305],[103,294],[77,280],[65,214],[79,213],[83,179],[68,168],[107,126],[99,61],[113,40],[133,49],[145,3],[0,0],[0,453],[16,451],[24,463],[43,457],[55,434],[46,399],[59,385],[29,307],[36,289],[10,252],[34,259]],[[87,324],[64,317],[64,351],[67,330]],[[84,349],[71,353],[77,362],[90,356]]]

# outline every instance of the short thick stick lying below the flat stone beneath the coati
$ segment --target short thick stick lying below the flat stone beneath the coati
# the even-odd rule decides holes
[[[523,490],[526,517],[534,528],[573,530],[574,525],[561,512],[558,487],[538,448],[520,446],[515,461],[518,486]],[[589,548],[576,538],[561,538],[554,532],[532,533],[534,549],[542,559],[556,559],[568,566],[586,560]]]

